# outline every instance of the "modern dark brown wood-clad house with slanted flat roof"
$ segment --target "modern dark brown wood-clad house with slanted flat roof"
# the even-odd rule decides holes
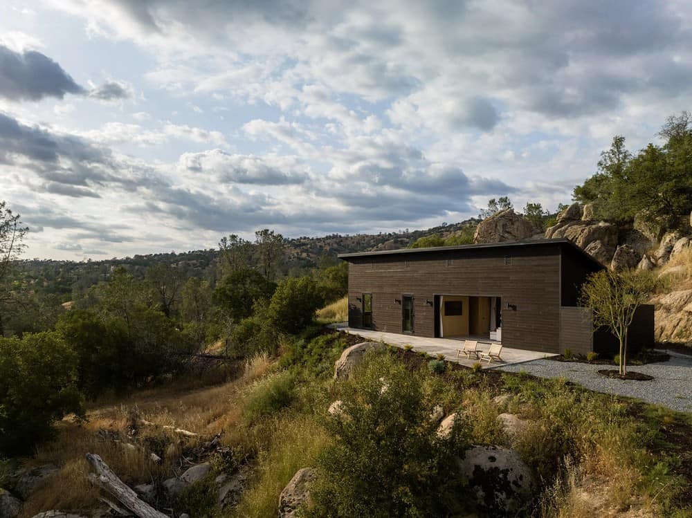
[[[612,352],[577,306],[603,265],[567,239],[342,254],[349,263],[349,327],[501,342],[515,349]],[[630,326],[630,351],[653,345],[653,306]]]

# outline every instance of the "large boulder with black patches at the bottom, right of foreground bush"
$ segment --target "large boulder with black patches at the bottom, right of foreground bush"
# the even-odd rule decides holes
[[[514,450],[473,446],[457,464],[476,505],[489,516],[514,516],[531,497],[534,477]]]

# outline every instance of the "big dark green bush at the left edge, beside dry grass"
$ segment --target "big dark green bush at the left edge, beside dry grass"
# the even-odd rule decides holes
[[[0,454],[26,453],[66,414],[82,415],[78,357],[58,333],[0,338]]]

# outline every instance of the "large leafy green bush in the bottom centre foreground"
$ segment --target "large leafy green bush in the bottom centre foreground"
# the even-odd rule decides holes
[[[339,396],[343,413],[327,418],[335,440],[318,462],[313,517],[424,517],[459,512],[455,454],[466,446],[462,420],[446,438],[430,418],[435,401],[424,373],[409,372],[386,351],[370,352]]]

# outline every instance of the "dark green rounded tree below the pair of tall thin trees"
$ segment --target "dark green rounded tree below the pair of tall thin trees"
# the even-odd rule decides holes
[[[276,284],[257,270],[242,268],[219,282],[213,298],[237,322],[252,315],[255,302],[271,298],[275,289]]]

